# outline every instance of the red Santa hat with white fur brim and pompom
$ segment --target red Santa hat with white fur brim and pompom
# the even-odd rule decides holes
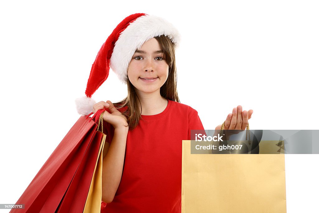
[[[109,69],[126,84],[127,69],[136,49],[149,39],[166,35],[177,46],[180,35],[166,20],[145,13],[135,13],[126,17],[113,30],[99,50],[87,81],[85,95],[75,102],[78,113],[88,115],[93,110],[93,93],[108,78]]]

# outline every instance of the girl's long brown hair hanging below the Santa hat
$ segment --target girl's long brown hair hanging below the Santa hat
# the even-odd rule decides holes
[[[177,73],[176,73],[176,62],[175,62],[175,44],[165,35],[154,37],[158,42],[159,46],[164,52],[164,58],[168,64],[168,77],[162,87],[160,87],[160,95],[172,101],[180,102],[177,95]],[[122,112],[127,119],[129,129],[134,129],[141,118],[141,102],[138,99],[135,87],[131,84],[129,78],[127,78],[127,92],[128,95],[119,103],[115,103],[114,106],[117,109],[127,106],[127,109]]]

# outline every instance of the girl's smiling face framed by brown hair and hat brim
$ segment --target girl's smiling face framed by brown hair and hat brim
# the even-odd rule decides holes
[[[135,51],[127,75],[137,93],[159,93],[168,77],[168,65],[155,38],[146,41]]]

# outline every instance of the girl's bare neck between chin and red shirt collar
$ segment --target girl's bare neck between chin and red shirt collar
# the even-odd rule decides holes
[[[138,98],[142,105],[142,115],[157,115],[166,109],[168,103],[160,94],[144,94]]]

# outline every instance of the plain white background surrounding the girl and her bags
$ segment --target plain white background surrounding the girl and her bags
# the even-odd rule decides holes
[[[254,110],[250,129],[319,129],[318,11],[316,1],[2,1],[0,203],[19,199],[78,119],[98,50],[136,12],[180,31],[179,97],[205,129],[237,105]],[[126,91],[110,72],[93,98]],[[319,156],[285,158],[287,212],[317,212]]]

